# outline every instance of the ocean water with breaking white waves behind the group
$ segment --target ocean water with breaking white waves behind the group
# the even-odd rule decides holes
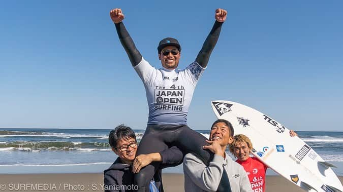
[[[107,129],[0,129],[0,173],[102,172],[117,158],[108,144],[109,132]],[[209,136],[209,131],[198,132]],[[139,142],[144,130],[135,133]],[[297,133],[325,161],[338,167],[334,170],[337,175],[343,175],[343,132]],[[164,172],[182,173],[182,166]]]

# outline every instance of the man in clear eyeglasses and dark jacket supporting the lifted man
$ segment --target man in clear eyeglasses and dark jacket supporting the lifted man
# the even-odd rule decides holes
[[[115,162],[104,171],[104,190],[106,191],[135,191],[134,173],[151,162],[162,162],[155,170],[150,182],[150,191],[163,192],[162,169],[182,163],[183,154],[177,147],[171,147],[162,152],[150,153],[136,157],[137,140],[134,131],[127,126],[119,125],[112,130],[108,141],[113,152],[118,155]]]

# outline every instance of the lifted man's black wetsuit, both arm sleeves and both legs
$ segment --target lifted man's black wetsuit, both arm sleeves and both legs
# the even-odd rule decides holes
[[[222,24],[221,22],[215,21],[212,30],[208,34],[196,58],[196,63],[203,68],[207,66],[210,54],[219,39]],[[115,24],[115,27],[119,40],[126,50],[132,66],[136,67],[143,60],[142,55],[137,50],[124,24],[120,22]],[[202,149],[203,145],[208,145],[205,140],[206,138],[204,136],[184,124],[171,126],[161,125],[159,122],[155,124],[149,123],[139,144],[137,156],[151,152],[160,152],[168,147],[177,146],[184,154],[192,152],[208,165],[213,158],[213,153],[209,150]],[[159,164],[159,162],[153,162],[135,175],[135,184],[139,187],[138,191],[149,191],[149,182],[158,170]],[[221,184],[217,191],[231,191],[227,174],[223,174]]]

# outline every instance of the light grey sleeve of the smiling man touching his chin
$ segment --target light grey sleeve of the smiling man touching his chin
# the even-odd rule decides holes
[[[214,155],[207,167],[192,153],[188,153],[183,159],[183,172],[203,190],[216,191],[224,172],[223,163],[222,156]]]

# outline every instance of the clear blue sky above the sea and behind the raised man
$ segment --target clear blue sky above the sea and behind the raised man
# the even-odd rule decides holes
[[[342,1],[6,1],[0,7],[0,128],[144,129],[147,102],[109,17],[121,8],[143,57],[175,37],[179,67],[228,18],[198,83],[188,123],[207,130],[211,100],[256,108],[287,128],[341,131]]]

